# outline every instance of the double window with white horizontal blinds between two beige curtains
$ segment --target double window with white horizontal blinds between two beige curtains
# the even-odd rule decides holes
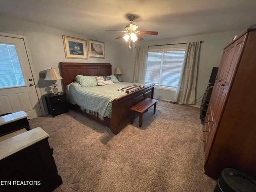
[[[185,48],[149,50],[145,83],[177,88],[184,56]]]

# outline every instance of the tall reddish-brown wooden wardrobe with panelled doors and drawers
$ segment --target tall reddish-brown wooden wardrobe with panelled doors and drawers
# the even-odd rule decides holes
[[[203,126],[204,170],[256,179],[256,25],[224,48]]]

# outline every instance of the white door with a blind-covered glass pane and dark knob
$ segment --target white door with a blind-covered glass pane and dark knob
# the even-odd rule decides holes
[[[41,116],[24,40],[0,36],[0,114],[24,110]]]

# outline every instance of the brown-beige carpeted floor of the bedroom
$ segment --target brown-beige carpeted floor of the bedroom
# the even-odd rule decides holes
[[[54,148],[63,184],[55,192],[212,192],[216,182],[204,175],[199,109],[158,101],[114,135],[74,111],[38,117]]]

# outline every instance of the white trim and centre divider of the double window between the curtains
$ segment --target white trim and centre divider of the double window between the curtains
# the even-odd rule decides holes
[[[182,46],[182,47],[176,47],[176,48],[158,48],[158,49],[150,49],[148,50],[148,52],[162,52],[162,58],[161,58],[161,68],[160,68],[160,76],[159,76],[159,84],[161,82],[161,75],[162,75],[162,63],[163,63],[163,55],[165,51],[185,51],[186,54],[186,46]],[[185,56],[184,56],[185,58]],[[182,64],[182,68],[183,68],[184,62]],[[147,69],[145,70],[145,77],[146,77],[146,73],[147,73]],[[149,83],[145,83],[148,84]],[[167,87],[167,86],[161,86],[161,85],[155,85],[154,86],[156,89],[162,89],[162,90],[169,90],[169,91],[176,91],[176,87]]]

